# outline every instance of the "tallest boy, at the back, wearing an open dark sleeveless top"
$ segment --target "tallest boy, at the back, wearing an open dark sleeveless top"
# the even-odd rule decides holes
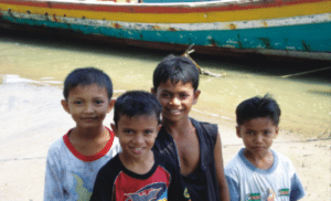
[[[169,55],[159,63],[151,92],[163,108],[162,128],[153,149],[175,161],[193,201],[228,201],[217,125],[189,117],[201,94],[197,86],[191,60]]]

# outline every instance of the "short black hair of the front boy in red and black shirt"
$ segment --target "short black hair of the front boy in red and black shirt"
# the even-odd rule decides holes
[[[114,121],[117,126],[121,116],[137,117],[142,115],[156,115],[158,124],[161,124],[162,106],[154,95],[143,91],[130,91],[120,95],[114,107]]]

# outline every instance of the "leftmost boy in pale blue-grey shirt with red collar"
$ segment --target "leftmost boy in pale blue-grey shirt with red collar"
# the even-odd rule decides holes
[[[113,84],[100,70],[77,68],[65,78],[63,95],[76,127],[50,147],[44,200],[89,200],[98,170],[120,150],[103,125],[114,106]]]

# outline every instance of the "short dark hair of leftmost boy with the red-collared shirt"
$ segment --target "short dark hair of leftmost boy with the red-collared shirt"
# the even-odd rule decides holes
[[[76,68],[71,72],[65,81],[63,88],[63,96],[67,99],[70,91],[78,85],[87,86],[97,84],[100,87],[105,87],[110,99],[113,96],[113,83],[110,77],[102,70],[95,67]]]

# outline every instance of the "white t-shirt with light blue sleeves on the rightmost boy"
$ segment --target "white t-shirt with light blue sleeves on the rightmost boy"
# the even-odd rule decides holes
[[[225,166],[231,201],[293,201],[305,197],[303,187],[291,161],[271,150],[274,165],[264,170],[253,166],[244,156],[245,148]]]

